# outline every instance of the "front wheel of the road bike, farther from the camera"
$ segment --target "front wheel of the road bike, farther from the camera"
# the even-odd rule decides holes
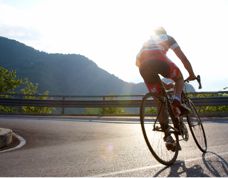
[[[207,152],[207,139],[206,134],[203,128],[202,121],[199,117],[199,114],[196,110],[195,105],[191,100],[188,101],[189,108],[191,109],[191,113],[187,116],[188,125],[192,136],[196,142],[198,148],[203,152]]]

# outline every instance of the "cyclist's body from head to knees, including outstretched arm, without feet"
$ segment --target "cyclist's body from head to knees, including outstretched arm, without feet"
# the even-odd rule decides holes
[[[146,41],[137,55],[136,65],[139,67],[141,76],[150,92],[160,92],[158,74],[175,81],[175,97],[180,101],[184,86],[184,79],[179,68],[166,56],[172,49],[182,61],[189,73],[189,80],[196,78],[192,66],[184,55],[176,40],[167,35],[163,27],[154,30],[154,34]]]

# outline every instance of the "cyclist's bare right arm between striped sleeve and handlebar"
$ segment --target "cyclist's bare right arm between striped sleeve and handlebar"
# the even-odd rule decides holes
[[[187,59],[187,57],[185,56],[185,54],[183,53],[183,51],[181,50],[180,47],[177,47],[175,49],[173,49],[174,53],[177,55],[177,57],[181,60],[181,62],[183,63],[185,69],[188,71],[189,73],[189,79],[193,80],[196,78],[193,69],[192,69],[192,65],[189,62],[189,60]]]

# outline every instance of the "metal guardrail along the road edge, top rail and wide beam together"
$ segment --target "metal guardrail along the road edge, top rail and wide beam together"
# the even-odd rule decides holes
[[[228,106],[228,96],[194,97],[197,94],[218,94],[228,92],[200,92],[190,93],[196,106]],[[9,97],[10,96],[10,97]],[[44,97],[41,95],[8,95],[8,98],[0,94],[2,106],[34,106],[61,108],[61,114],[65,114],[66,108],[139,108],[143,95],[108,95],[108,96],[45,96],[48,99],[25,99],[26,97]],[[127,98],[127,99],[126,99]],[[151,104],[151,103],[150,103]],[[228,115],[226,113],[225,115]]]

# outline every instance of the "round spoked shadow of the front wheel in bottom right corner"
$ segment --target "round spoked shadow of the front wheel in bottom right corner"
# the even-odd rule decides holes
[[[228,163],[220,155],[208,151],[203,154],[203,162],[213,176],[228,176]]]

